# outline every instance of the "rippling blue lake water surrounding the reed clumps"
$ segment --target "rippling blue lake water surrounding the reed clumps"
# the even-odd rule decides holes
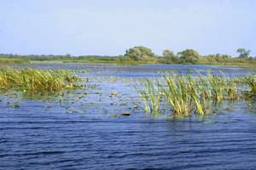
[[[160,77],[160,72],[189,68],[242,77],[250,70],[206,65],[32,67],[89,70],[79,73],[89,77],[88,88],[37,99],[1,94],[0,169],[256,167],[255,100],[220,105],[211,116],[189,119],[154,119],[134,107],[139,99],[133,86],[145,77]],[[124,112],[131,116],[110,116]]]

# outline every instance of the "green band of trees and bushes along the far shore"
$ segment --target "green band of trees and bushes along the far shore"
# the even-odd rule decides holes
[[[124,55],[99,56],[84,55],[17,55],[0,54],[0,65],[2,64],[24,64],[30,61],[61,61],[61,62],[87,62],[87,63],[113,63],[113,64],[143,64],[143,63],[164,63],[164,64],[212,64],[212,65],[241,65],[254,67],[256,58],[250,56],[250,50],[239,48],[236,50],[237,57],[227,54],[201,55],[195,49],[185,49],[177,54],[169,49],[163,51],[162,56],[155,55],[150,48],[137,46],[129,48]],[[256,67],[256,66],[255,66]]]

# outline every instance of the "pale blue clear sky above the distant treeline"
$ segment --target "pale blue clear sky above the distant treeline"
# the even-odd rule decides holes
[[[256,55],[254,0],[0,0],[0,54]]]

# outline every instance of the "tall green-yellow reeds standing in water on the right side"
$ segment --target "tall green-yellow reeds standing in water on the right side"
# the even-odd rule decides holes
[[[242,83],[241,83],[242,82]],[[144,110],[155,114],[161,105],[170,105],[174,116],[205,116],[212,112],[215,105],[222,101],[236,101],[248,93],[243,93],[244,85],[250,87],[250,94],[256,92],[255,76],[246,77],[244,81],[224,77],[224,75],[192,77],[186,75],[164,75],[164,82],[156,85],[146,80],[143,90],[137,90],[142,97]],[[238,86],[242,86],[237,88]],[[157,88],[155,88],[157,87]],[[163,95],[164,99],[160,100]]]

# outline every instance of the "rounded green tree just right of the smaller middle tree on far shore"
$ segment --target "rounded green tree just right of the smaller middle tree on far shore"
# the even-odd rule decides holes
[[[183,50],[177,55],[185,63],[196,63],[200,59],[200,54],[194,49]]]

